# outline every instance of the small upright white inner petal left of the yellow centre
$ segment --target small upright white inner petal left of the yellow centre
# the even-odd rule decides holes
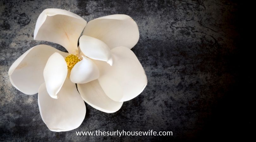
[[[48,94],[52,98],[58,98],[60,91],[68,73],[67,63],[63,56],[55,52],[49,57],[44,68],[44,79]]]

